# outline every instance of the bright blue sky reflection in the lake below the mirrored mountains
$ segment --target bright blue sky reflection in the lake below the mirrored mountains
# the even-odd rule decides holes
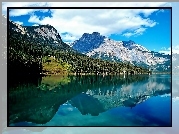
[[[162,99],[158,103],[154,102],[157,99]],[[160,124],[166,124],[168,120],[170,120],[170,107],[166,107],[164,104],[168,103],[170,97],[154,97],[149,99],[148,101],[137,105],[136,107],[130,109],[127,107],[118,107],[110,109],[104,113],[101,113],[98,117],[86,115],[81,116],[81,113],[77,108],[72,107],[70,104],[63,105],[59,108],[57,114],[53,117],[53,119],[47,123],[46,125],[90,125],[90,123],[94,125],[151,125],[153,120]],[[159,111],[156,113],[156,110]],[[161,114],[161,112],[163,112]],[[166,115],[166,116],[163,116]],[[68,116],[68,117],[67,117]],[[88,122],[86,122],[88,120]],[[68,122],[68,123],[67,123]],[[118,122],[116,124],[116,122]],[[155,125],[155,124],[153,124]],[[157,125],[157,124],[156,124]]]

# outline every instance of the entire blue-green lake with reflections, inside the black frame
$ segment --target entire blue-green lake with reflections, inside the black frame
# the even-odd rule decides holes
[[[171,126],[171,114],[168,74],[57,75],[8,87],[9,126]]]

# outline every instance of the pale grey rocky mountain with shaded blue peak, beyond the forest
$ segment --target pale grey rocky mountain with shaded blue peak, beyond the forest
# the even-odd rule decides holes
[[[150,51],[132,40],[115,41],[97,32],[83,34],[73,43],[73,49],[93,58],[130,62],[153,70],[170,70],[170,55]]]

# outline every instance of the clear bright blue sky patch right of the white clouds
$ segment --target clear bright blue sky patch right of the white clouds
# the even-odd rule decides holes
[[[166,49],[171,44],[171,14],[170,10],[164,10],[162,12],[153,13],[149,16],[150,19],[155,20],[158,24],[154,27],[148,28],[138,36],[121,36],[111,35],[110,38],[115,40],[133,40],[138,44],[145,46],[149,50],[159,51],[161,48]]]

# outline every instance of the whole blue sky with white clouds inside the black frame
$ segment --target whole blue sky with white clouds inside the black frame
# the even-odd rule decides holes
[[[25,26],[50,24],[57,29],[65,42],[73,42],[83,33],[99,32],[114,40],[133,40],[149,50],[170,50],[170,10],[83,11],[20,9],[12,10],[10,19]]]

